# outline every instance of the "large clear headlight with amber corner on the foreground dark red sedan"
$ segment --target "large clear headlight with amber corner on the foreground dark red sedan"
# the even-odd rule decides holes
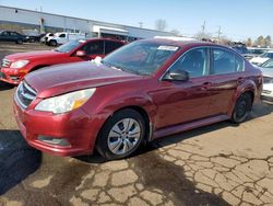
[[[80,90],[63,95],[45,99],[39,102],[35,110],[60,114],[82,106],[96,91],[95,88]]]

